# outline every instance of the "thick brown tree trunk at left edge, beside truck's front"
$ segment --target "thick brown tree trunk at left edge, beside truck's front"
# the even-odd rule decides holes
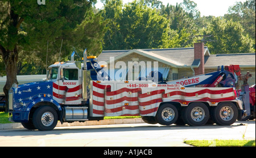
[[[1,46],[1,45],[0,45]],[[0,47],[2,51],[3,61],[5,62],[5,70],[6,70],[6,84],[3,87],[3,92],[5,93],[6,98],[6,108],[5,111],[9,111],[9,89],[15,83],[18,84],[17,81],[17,61],[18,61],[18,49],[17,47],[14,50],[5,50],[3,47]]]

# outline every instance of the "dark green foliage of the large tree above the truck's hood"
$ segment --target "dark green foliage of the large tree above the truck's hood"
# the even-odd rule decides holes
[[[0,45],[6,49],[11,49],[6,44],[13,44],[10,45],[12,48],[14,45],[18,46],[17,74],[44,74],[47,65],[60,59],[67,59],[73,48],[77,50],[88,48],[88,52],[92,54],[100,53],[106,22],[102,22],[100,14],[92,13],[92,4],[95,2],[95,0],[56,0],[47,1],[46,5],[38,5],[33,0],[0,2]],[[15,37],[9,37],[13,33],[10,35],[8,33],[11,29],[8,29],[7,5],[11,6],[15,16],[22,19],[18,32],[14,34]],[[82,27],[85,26],[85,31],[82,31]],[[90,37],[89,32],[92,32]],[[93,40],[88,40],[89,38]]]

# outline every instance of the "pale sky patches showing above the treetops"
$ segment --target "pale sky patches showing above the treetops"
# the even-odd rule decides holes
[[[101,9],[103,4],[100,0],[97,0],[96,7]],[[133,0],[123,0],[123,3],[132,2]],[[183,0],[160,0],[163,5],[170,3],[176,5],[176,3],[182,3]],[[228,13],[229,6],[233,6],[236,2],[245,2],[246,0],[192,0],[197,4],[197,9],[200,11],[201,16],[223,16]]]

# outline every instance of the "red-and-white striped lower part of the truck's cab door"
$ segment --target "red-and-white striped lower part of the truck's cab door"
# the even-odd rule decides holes
[[[58,82],[58,81],[56,81]],[[82,85],[72,85],[72,86],[66,86],[66,85],[59,85],[58,83],[53,82],[53,89],[52,89],[52,95],[53,99],[57,101],[60,104],[66,104],[66,105],[77,105],[81,104],[81,88]]]

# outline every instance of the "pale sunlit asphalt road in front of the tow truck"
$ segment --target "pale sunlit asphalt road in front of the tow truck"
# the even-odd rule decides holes
[[[232,126],[114,124],[56,127],[52,131],[0,130],[0,147],[187,147],[184,140],[255,140],[255,120]]]

